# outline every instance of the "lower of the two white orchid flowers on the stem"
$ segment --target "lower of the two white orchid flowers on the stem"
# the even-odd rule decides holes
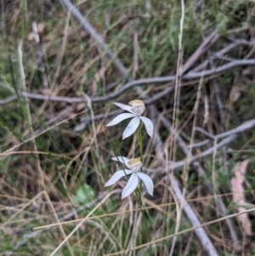
[[[122,177],[131,174],[127,181],[127,185],[122,191],[122,199],[129,196],[139,185],[139,179],[142,179],[144,181],[144,185],[148,191],[148,193],[153,196],[154,191],[154,185],[152,182],[152,179],[146,174],[142,174],[139,172],[139,169],[142,167],[142,162],[140,161],[140,158],[132,158],[127,159],[127,157],[124,156],[117,156],[111,158],[113,161],[122,162],[127,166],[128,169],[123,169],[120,171],[117,171],[115,174],[111,176],[111,179],[109,179],[105,186],[114,185],[117,180],[121,179]]]

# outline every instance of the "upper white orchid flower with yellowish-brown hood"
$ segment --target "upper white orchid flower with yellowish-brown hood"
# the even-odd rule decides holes
[[[129,105],[124,105],[118,102],[115,102],[114,104],[122,108],[122,110],[130,112],[131,114],[129,113],[121,114],[115,117],[111,122],[107,123],[106,126],[113,126],[119,122],[122,122],[127,118],[133,117],[131,122],[129,122],[129,124],[127,125],[127,128],[124,130],[122,134],[122,139],[126,139],[136,131],[136,129],[139,127],[140,120],[144,122],[144,126],[146,128],[147,134],[149,134],[150,137],[152,137],[153,128],[154,128],[153,123],[150,121],[149,118],[141,116],[145,110],[143,100],[132,100],[128,102]]]

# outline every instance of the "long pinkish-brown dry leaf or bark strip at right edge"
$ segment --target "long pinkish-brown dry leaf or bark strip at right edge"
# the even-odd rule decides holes
[[[233,202],[236,202],[238,205],[246,205],[245,201],[245,190],[243,187],[243,182],[245,180],[246,169],[249,161],[245,160],[243,162],[238,162],[235,165],[235,178],[230,180],[231,189],[233,192]],[[246,235],[252,235],[252,225],[250,219],[248,218],[248,213],[245,213],[246,208],[238,207],[238,212],[242,213],[237,216],[238,221],[241,223],[243,230]]]

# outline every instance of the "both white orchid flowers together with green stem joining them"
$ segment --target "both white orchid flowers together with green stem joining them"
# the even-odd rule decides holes
[[[126,176],[128,178],[127,185],[125,186],[124,190],[122,191],[122,199],[129,196],[133,191],[136,190],[136,188],[139,185],[139,179],[143,180],[144,185],[148,191],[148,193],[153,196],[153,190],[154,190],[154,185],[152,182],[152,179],[147,174],[143,174],[140,172],[142,168],[142,134],[141,134],[141,125],[142,121],[144,123],[145,129],[147,134],[152,137],[153,134],[153,123],[150,121],[148,117],[142,117],[142,114],[144,113],[145,106],[144,106],[144,101],[143,100],[132,100],[128,104],[129,105],[124,105],[121,103],[114,103],[115,105],[119,106],[125,111],[128,111],[130,113],[124,113],[121,114],[117,117],[115,117],[111,122],[106,124],[106,126],[113,126],[116,125],[119,122],[122,122],[123,120],[126,120],[127,118],[133,117],[131,122],[127,125],[127,128],[124,130],[122,134],[122,139],[126,139],[127,137],[131,136],[138,128],[138,139],[139,139],[139,149],[140,149],[140,158],[132,158],[132,159],[127,159],[127,157],[124,156],[116,156],[113,157],[112,160],[118,161],[123,163],[127,168],[124,168],[120,171],[117,171],[111,179],[109,179],[106,183],[105,186],[113,185],[116,183],[118,179],[121,179],[122,177]],[[127,175],[130,175],[128,177]]]

